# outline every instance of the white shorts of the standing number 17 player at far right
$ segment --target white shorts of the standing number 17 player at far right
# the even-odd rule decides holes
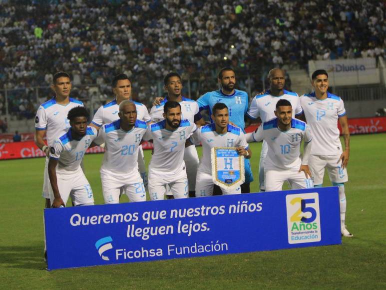
[[[323,184],[325,168],[332,182],[344,183],[349,181],[347,168],[342,168],[341,155],[310,155],[308,166],[310,167],[314,184]]]

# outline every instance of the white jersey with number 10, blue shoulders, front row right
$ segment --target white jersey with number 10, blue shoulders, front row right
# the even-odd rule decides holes
[[[274,118],[264,122],[253,132],[253,138],[258,142],[264,139],[268,144],[265,169],[298,169],[302,164],[300,145],[302,140],[309,143],[312,133],[305,122],[294,118],[291,121],[291,128],[281,131],[278,128],[278,118]]]

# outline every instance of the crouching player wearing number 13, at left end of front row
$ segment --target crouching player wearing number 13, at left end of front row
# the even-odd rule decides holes
[[[57,137],[49,148],[48,175],[51,183],[51,207],[65,206],[68,197],[78,205],[93,205],[92,190],[80,163],[84,153],[97,136],[93,127],[87,126],[88,112],[77,106],[68,112],[68,131]]]

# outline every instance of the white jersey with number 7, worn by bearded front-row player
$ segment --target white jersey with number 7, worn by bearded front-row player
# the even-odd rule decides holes
[[[166,129],[165,124],[166,120],[151,124],[143,136],[145,140],[153,139],[154,144],[149,170],[171,172],[182,168],[186,139],[197,129],[195,123],[185,119],[174,131]]]

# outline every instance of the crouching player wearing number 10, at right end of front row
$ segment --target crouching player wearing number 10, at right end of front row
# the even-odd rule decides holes
[[[308,160],[313,138],[310,127],[303,121],[292,118],[292,105],[287,99],[276,103],[276,118],[262,125],[253,133],[247,134],[255,141],[267,141],[268,152],[265,158],[266,191],[282,190],[288,181],[292,189],[313,187]],[[300,145],[304,140],[304,155],[301,158]]]

